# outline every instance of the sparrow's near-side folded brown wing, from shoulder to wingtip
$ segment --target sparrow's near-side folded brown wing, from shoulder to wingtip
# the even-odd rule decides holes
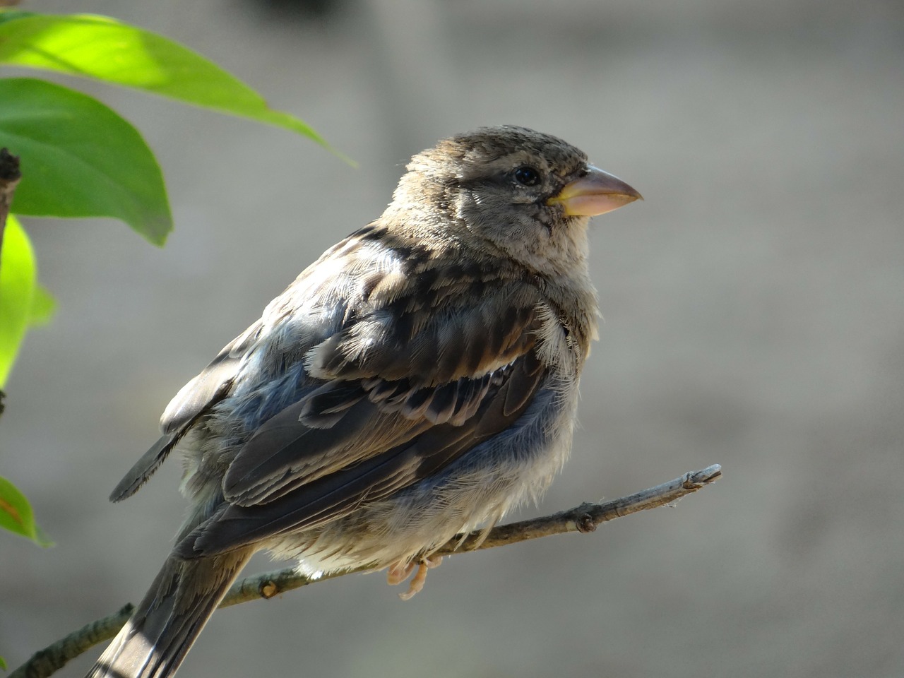
[[[228,551],[332,520],[511,426],[547,374],[535,351],[544,315],[536,287],[500,275],[426,268],[372,281],[306,353],[317,388],[240,447],[225,504],[179,552]]]

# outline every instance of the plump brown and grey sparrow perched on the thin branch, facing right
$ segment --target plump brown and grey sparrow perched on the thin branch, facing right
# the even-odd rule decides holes
[[[89,678],[165,678],[257,551],[411,576],[538,500],[597,338],[588,222],[641,198],[558,137],[481,127],[414,155],[381,217],[306,268],[166,407],[191,508]],[[413,573],[413,575],[412,575]]]

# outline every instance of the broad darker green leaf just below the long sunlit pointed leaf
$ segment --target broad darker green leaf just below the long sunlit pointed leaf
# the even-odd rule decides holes
[[[44,80],[0,80],[0,146],[22,158],[14,212],[114,217],[156,245],[173,230],[154,154],[97,99]]]

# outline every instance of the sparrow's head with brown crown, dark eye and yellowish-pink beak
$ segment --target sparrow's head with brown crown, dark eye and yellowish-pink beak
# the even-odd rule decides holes
[[[417,215],[430,237],[441,230],[550,275],[586,259],[589,217],[641,197],[578,148],[526,127],[443,139],[408,170],[387,215]]]

